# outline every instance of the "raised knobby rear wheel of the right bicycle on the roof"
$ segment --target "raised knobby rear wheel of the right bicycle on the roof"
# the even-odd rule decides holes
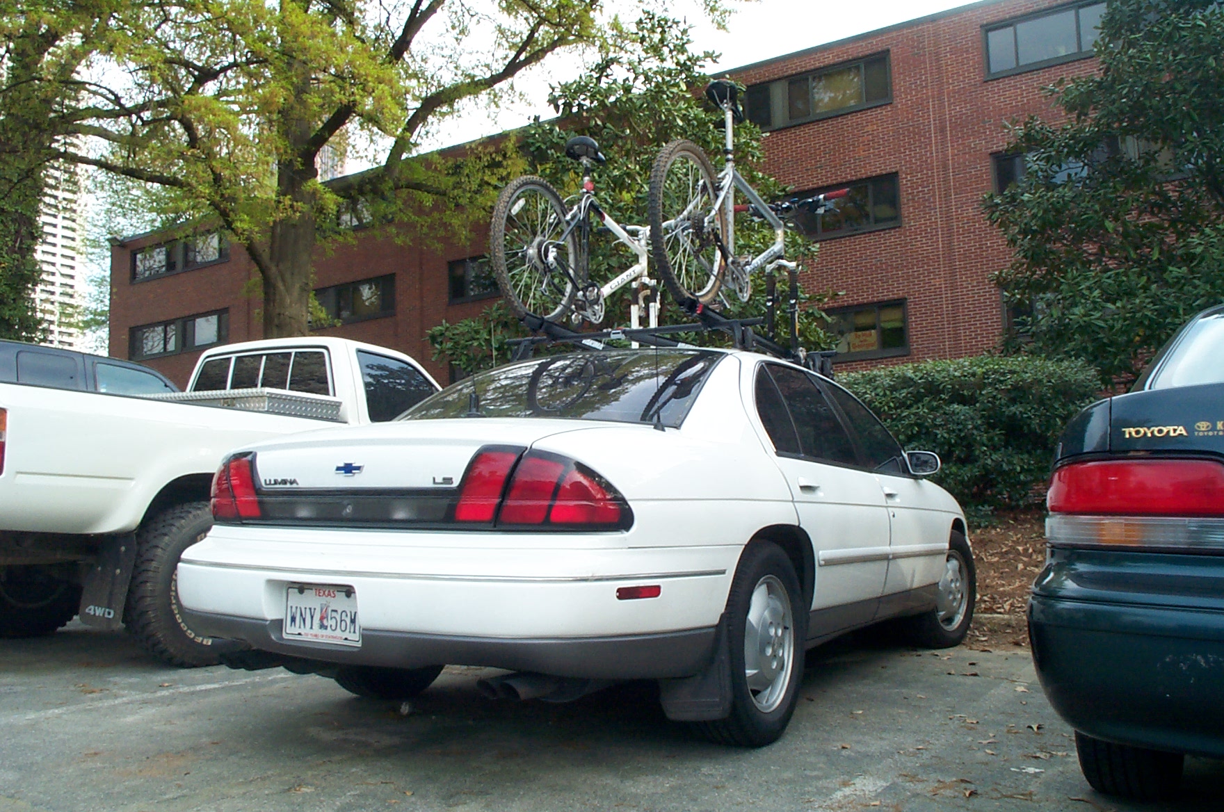
[[[714,212],[715,190],[710,159],[692,141],[673,141],[655,158],[646,201],[650,252],[681,303],[709,304],[722,287],[726,264],[718,242],[726,245],[727,224],[723,212]]]

